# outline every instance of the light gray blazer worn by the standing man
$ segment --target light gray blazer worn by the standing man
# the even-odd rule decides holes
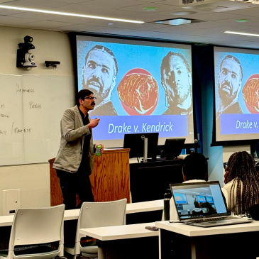
[[[91,120],[90,117],[89,120]],[[65,110],[60,121],[60,130],[60,149],[58,150],[53,168],[72,173],[77,172],[82,160],[84,136],[91,133],[88,126],[84,126],[77,105]],[[94,143],[91,136],[88,155],[91,168],[89,175],[91,175],[93,169],[93,155]]]

